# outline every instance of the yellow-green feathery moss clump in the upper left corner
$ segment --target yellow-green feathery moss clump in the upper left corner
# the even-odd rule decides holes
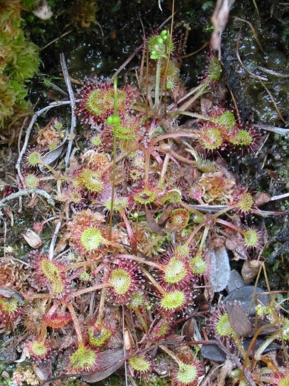
[[[20,3],[0,0],[0,127],[7,117],[23,112],[29,104],[25,82],[38,71],[39,49],[21,27]]]

